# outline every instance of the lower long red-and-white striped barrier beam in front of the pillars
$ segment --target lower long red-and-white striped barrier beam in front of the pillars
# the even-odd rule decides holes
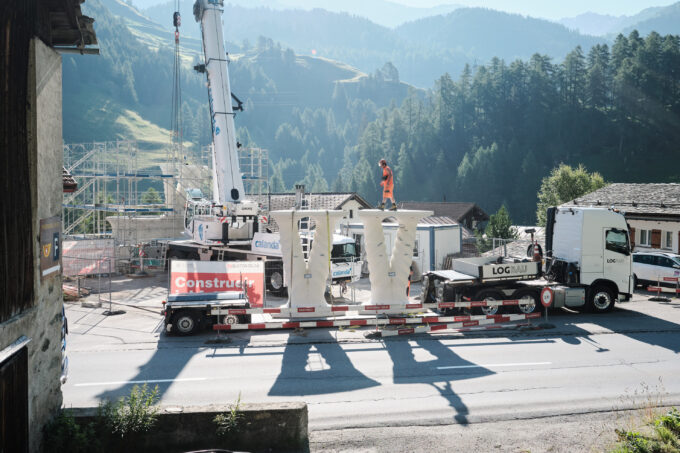
[[[317,327],[352,327],[352,326],[377,326],[406,325],[422,323],[445,323],[440,326],[431,326],[435,330],[471,328],[487,324],[499,324],[510,321],[533,319],[540,317],[540,313],[513,314],[513,315],[479,315],[479,316],[421,316],[413,318],[364,318],[364,319],[338,319],[323,321],[283,321],[283,322],[261,322],[250,324],[215,324],[213,330],[270,330],[270,329],[298,329],[298,328],[317,328]],[[428,327],[428,326],[424,326]],[[436,327],[436,328],[434,328]],[[400,329],[412,331],[415,328]],[[420,329],[420,328],[419,328]],[[419,330],[420,331],[420,330]],[[427,330],[423,330],[427,331]],[[383,331],[388,332],[388,331]],[[392,332],[392,331],[389,331]],[[394,332],[397,332],[396,330]],[[396,335],[396,334],[387,334]]]

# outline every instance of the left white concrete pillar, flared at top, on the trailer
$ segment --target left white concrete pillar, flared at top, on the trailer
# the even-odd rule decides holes
[[[342,211],[326,210],[271,212],[281,235],[283,275],[288,286],[288,303],[291,308],[328,307],[324,291],[330,272],[333,231],[342,215]],[[300,237],[300,220],[305,217],[316,225],[307,261],[303,255]],[[318,313],[300,313],[296,316],[318,316]]]

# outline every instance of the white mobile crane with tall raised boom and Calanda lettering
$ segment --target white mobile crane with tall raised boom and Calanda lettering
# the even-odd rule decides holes
[[[239,168],[235,110],[243,110],[241,101],[231,92],[229,59],[224,49],[222,12],[224,0],[196,0],[194,17],[201,24],[204,62],[194,69],[206,74],[212,124],[213,200],[200,189],[186,191],[184,234],[188,239],[167,242],[165,257],[189,260],[261,260],[265,262],[267,289],[285,293],[281,254],[276,250],[257,247],[260,225],[266,223],[266,212],[259,204],[248,200]],[[179,13],[173,15],[178,43]],[[232,99],[237,106],[232,105]],[[257,237],[256,237],[257,236]],[[260,241],[262,242],[262,241]],[[361,262],[352,257],[352,271],[347,266],[347,243],[354,240],[334,235],[332,281],[346,282],[359,276]],[[337,245],[337,247],[336,247]],[[355,250],[352,247],[352,250]],[[336,256],[337,255],[337,256]],[[354,265],[356,261],[357,265]]]

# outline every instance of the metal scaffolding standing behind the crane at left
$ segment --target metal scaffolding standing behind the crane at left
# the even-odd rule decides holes
[[[191,159],[195,162],[187,159],[185,151],[175,144],[165,151],[164,162],[159,162],[158,152],[140,152],[136,141],[65,144],[64,167],[78,182],[78,189],[63,198],[65,238],[110,238],[112,228],[106,219],[116,216],[117,225],[126,232],[117,245],[134,246],[139,243],[135,220],[152,221],[155,215],[170,223],[177,221],[190,188],[200,188],[211,198],[211,146],[202,147]],[[239,163],[246,194],[260,199],[268,190],[267,150],[240,148]],[[144,203],[149,201],[143,200],[147,188],[161,185],[160,199]]]

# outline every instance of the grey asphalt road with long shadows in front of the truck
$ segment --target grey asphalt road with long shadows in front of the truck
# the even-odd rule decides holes
[[[164,405],[305,401],[310,429],[468,424],[680,404],[680,300],[637,295],[614,312],[551,312],[553,329],[367,339],[302,334],[162,333],[165,294],[121,282],[126,310],[69,304],[67,407],[157,384]],[[163,279],[158,280],[159,284]],[[130,285],[135,285],[129,288]],[[106,307],[104,307],[106,308]]]

